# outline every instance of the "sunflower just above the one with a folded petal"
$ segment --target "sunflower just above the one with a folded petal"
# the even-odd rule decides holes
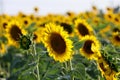
[[[82,38],[86,35],[93,35],[92,27],[82,19],[75,20],[75,32],[79,35],[79,38]]]

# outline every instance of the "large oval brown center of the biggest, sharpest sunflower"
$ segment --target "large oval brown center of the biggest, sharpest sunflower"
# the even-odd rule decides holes
[[[58,33],[51,34],[50,44],[52,49],[58,54],[62,54],[66,50],[66,43],[64,39],[61,37],[61,35]]]

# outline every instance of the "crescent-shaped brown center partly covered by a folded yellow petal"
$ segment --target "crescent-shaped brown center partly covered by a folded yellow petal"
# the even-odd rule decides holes
[[[87,40],[87,41],[85,41],[85,43],[84,43],[83,49],[84,49],[84,51],[85,51],[86,53],[88,53],[88,54],[93,54],[93,53],[94,53],[94,52],[91,50],[92,43],[93,43],[93,41],[91,41],[91,40]]]

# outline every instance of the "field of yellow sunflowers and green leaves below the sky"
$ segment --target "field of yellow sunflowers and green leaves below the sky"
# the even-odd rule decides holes
[[[0,14],[0,80],[120,80],[120,8]]]

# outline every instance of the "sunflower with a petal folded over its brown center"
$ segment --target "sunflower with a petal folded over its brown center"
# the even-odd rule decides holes
[[[101,56],[100,43],[95,36],[87,35],[81,41],[84,41],[83,47],[80,49],[81,55],[94,60],[97,60]]]

